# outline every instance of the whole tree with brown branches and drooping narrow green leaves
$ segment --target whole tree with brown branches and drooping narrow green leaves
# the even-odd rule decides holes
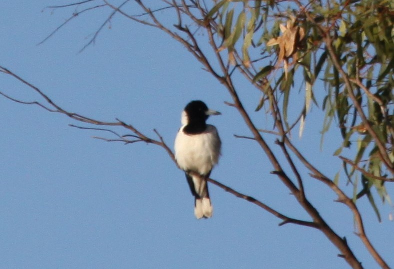
[[[311,178],[324,183],[338,196],[338,201],[350,209],[357,226],[356,233],[362,243],[382,268],[388,268],[366,235],[356,201],[366,197],[380,220],[371,190],[375,188],[383,201],[389,201],[385,185],[394,182],[392,1],[160,0],[150,3],[123,0],[115,5],[108,0],[85,0],[48,8],[75,8],[69,19],[49,37],[79,15],[109,8],[112,13],[87,45],[95,41],[115,14],[158,28],[183,44],[227,90],[232,98],[228,105],[238,111],[252,133],[252,137],[244,138],[254,140],[261,147],[272,164],[272,173],[295,196],[311,221],[287,217],[250,196],[213,179],[210,181],[259,205],[282,219],[281,224],[293,223],[320,230],[340,250],[349,265],[362,268],[346,239],[334,232],[306,198],[304,178],[299,172],[306,169]],[[135,10],[139,10],[139,13],[132,15]],[[117,136],[108,141],[153,143],[163,147],[173,159],[171,149],[158,133],[159,139],[154,140],[120,120],[100,122],[69,113],[5,67],[1,70],[45,97],[47,104],[38,104],[47,110],[85,123],[108,128],[124,127],[132,134],[121,136],[111,129],[101,130]],[[261,92],[255,110],[272,117],[273,130],[261,130],[251,120],[234,85],[235,73],[242,75]],[[299,95],[303,96],[303,103],[294,104]],[[321,173],[291,142],[295,126],[299,127],[302,135],[303,126],[312,114],[312,106],[325,112],[321,126],[322,143],[324,134],[331,128],[340,132],[342,137],[337,149],[333,150],[333,154],[343,163],[342,167],[336,168],[338,173],[335,178]],[[282,150],[289,169],[283,168],[278,162],[277,155],[271,150],[275,145],[269,145],[265,139],[268,135],[276,137],[276,144]],[[302,165],[296,165],[294,158]],[[342,174],[346,175],[344,180],[353,188],[352,197],[339,187],[339,181],[343,180]],[[357,187],[359,179],[361,189]]]

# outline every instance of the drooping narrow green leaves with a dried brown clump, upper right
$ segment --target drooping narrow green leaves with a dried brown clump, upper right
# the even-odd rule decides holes
[[[334,154],[353,199],[366,195],[379,220],[371,189],[389,201],[384,184],[394,181],[393,6],[389,0],[222,0],[206,15],[215,22],[219,51],[226,49],[229,64],[263,92],[256,110],[272,107],[273,92],[286,132],[299,123],[300,134],[313,103],[325,111],[321,141],[333,127],[340,132]],[[322,85],[324,93],[317,91]],[[289,104],[299,94],[304,104],[290,122]]]

